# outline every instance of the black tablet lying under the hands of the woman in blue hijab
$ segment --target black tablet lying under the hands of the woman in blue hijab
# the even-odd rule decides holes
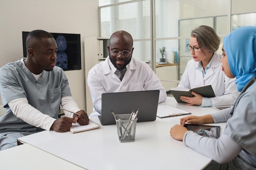
[[[220,126],[185,124],[184,127],[186,127],[187,130],[192,130],[201,136],[213,137],[217,139],[220,137]]]

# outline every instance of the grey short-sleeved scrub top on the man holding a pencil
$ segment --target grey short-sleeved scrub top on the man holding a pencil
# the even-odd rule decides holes
[[[0,93],[7,114],[0,117],[0,134],[4,132],[37,132],[36,128],[13,115],[8,102],[27,98],[29,104],[40,112],[58,119],[61,98],[72,96],[64,71],[54,66],[43,71],[37,82],[29,69],[18,60],[0,68]]]

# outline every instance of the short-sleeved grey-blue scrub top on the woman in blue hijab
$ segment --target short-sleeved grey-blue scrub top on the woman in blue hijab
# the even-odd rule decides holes
[[[239,156],[256,167],[256,83],[238,97],[234,114],[223,133],[229,135],[243,150]]]

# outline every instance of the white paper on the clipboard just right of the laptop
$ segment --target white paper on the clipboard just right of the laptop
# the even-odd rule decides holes
[[[189,113],[185,110],[175,108],[175,107],[170,106],[168,104],[159,105],[157,107],[157,117],[160,117],[160,118],[190,115],[190,114],[191,113]]]

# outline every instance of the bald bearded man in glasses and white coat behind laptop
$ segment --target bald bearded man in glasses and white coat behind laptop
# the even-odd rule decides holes
[[[93,113],[101,114],[101,94],[127,91],[159,90],[159,103],[166,100],[166,90],[153,70],[132,57],[132,35],[117,31],[110,36],[105,61],[95,65],[88,73],[88,86],[92,95]]]

